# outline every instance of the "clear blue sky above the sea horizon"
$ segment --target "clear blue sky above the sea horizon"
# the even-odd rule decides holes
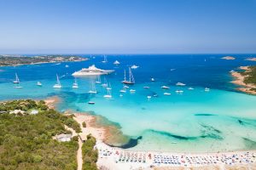
[[[256,0],[0,0],[0,54],[256,53]]]

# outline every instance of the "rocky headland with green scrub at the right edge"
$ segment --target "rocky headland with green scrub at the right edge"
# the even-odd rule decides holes
[[[256,94],[256,65],[253,66],[241,66],[241,71],[232,71],[232,77],[236,80],[233,83],[243,86],[243,88],[237,88],[241,92],[247,94]]]

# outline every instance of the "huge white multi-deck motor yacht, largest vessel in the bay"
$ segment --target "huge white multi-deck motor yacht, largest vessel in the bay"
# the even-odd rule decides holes
[[[75,71],[73,77],[84,77],[84,76],[99,76],[99,75],[108,75],[113,73],[113,70],[102,70],[96,68],[95,65],[90,65],[88,68],[83,68],[80,71]]]

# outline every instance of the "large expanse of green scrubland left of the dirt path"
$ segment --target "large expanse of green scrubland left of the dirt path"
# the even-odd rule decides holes
[[[21,110],[25,114],[9,114]],[[37,115],[29,111],[38,110]],[[77,169],[78,142],[52,139],[76,126],[72,117],[49,110],[44,101],[14,100],[0,103],[0,169]]]

